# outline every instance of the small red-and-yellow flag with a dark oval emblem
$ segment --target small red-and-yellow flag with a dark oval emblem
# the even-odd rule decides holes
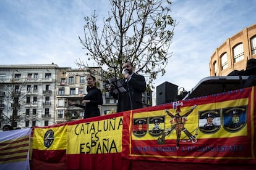
[[[66,168],[67,124],[34,127],[32,140],[32,169]]]

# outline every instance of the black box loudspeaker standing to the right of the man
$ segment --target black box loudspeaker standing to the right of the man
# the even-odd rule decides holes
[[[156,105],[176,101],[178,86],[169,82],[164,82],[156,87]]]

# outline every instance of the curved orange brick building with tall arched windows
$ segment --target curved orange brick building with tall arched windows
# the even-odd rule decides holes
[[[256,24],[228,38],[215,50],[210,59],[210,76],[245,70],[249,59],[256,59]]]

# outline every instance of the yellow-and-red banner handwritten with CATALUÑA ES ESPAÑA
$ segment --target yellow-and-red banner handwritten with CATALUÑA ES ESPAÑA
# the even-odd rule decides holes
[[[122,113],[83,119],[67,127],[68,169],[123,169]]]

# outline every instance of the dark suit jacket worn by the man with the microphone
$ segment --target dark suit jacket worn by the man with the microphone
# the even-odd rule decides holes
[[[129,81],[122,83],[122,86],[127,92],[122,94],[114,94],[113,91],[110,92],[114,99],[118,100],[117,112],[142,108],[142,92],[146,90],[144,76],[134,73]]]

